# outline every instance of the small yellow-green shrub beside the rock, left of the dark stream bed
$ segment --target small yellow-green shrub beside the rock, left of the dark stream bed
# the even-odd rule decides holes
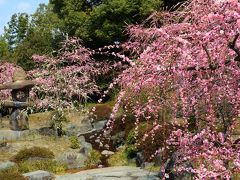
[[[101,163],[101,153],[92,150],[88,153],[88,159],[85,161],[85,166],[87,168],[95,168]]]

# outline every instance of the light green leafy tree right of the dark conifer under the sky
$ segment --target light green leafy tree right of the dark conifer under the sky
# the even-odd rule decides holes
[[[31,15],[31,22],[27,37],[18,45],[13,53],[17,63],[25,70],[33,68],[33,54],[48,55],[60,46],[64,39],[60,32],[61,21],[52,12],[50,5],[40,4],[36,12]]]

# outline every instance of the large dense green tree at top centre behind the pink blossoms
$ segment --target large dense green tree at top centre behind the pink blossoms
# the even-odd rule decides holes
[[[53,0],[50,3],[64,20],[63,31],[95,48],[125,40],[127,24],[141,23],[163,5],[161,0]]]

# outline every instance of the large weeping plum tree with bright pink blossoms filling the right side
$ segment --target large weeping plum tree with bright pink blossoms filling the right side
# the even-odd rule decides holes
[[[176,128],[157,153],[174,146],[177,172],[230,179],[240,171],[239,145],[231,136],[240,108],[240,3],[192,0],[155,22],[161,26],[128,29],[130,40],[123,47],[132,52],[133,63],[115,82],[122,90],[105,132],[123,105],[126,111],[131,107],[137,126],[141,117],[155,119],[143,139],[154,137],[162,126],[159,112],[167,107],[171,123],[181,119],[186,125]],[[144,101],[134,99],[146,88]]]

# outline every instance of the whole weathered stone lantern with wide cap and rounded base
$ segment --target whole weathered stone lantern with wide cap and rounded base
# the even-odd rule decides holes
[[[13,74],[13,82],[0,85],[0,90],[10,89],[12,101],[3,101],[4,108],[11,109],[10,129],[23,131],[29,129],[28,116],[24,109],[30,106],[29,92],[35,83],[27,80],[26,72],[18,68]]]

